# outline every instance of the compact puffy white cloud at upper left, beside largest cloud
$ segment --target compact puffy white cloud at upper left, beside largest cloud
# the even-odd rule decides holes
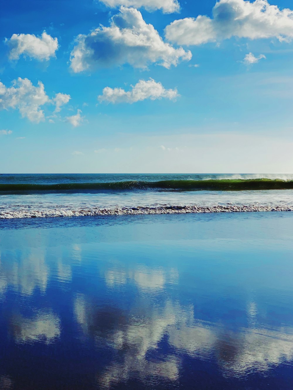
[[[11,60],[18,60],[21,55],[27,55],[39,61],[48,61],[50,57],[55,57],[59,47],[58,39],[52,38],[46,31],[41,37],[33,34],[13,34],[6,42],[11,48],[9,54]]]

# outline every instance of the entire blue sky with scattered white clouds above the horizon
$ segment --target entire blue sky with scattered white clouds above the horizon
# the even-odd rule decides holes
[[[293,171],[289,0],[0,6],[0,172]]]

